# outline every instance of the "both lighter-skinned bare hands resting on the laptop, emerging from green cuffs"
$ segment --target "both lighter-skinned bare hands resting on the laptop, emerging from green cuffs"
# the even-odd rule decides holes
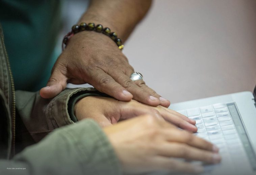
[[[215,145],[192,134],[197,131],[194,120],[162,106],[89,96],[76,103],[74,112],[78,120],[93,118],[103,127],[124,174],[203,171],[177,157],[210,164],[221,161]]]

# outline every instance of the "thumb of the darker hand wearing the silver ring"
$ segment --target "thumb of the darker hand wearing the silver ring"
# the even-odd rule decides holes
[[[40,95],[43,98],[53,98],[57,96],[67,86],[68,77],[59,70],[54,70],[50,76],[46,87],[40,90]]]

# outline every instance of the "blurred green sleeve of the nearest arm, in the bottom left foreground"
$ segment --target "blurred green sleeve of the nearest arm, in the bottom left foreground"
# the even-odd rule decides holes
[[[85,119],[55,130],[10,161],[0,160],[0,174],[116,175],[122,170],[102,129]]]

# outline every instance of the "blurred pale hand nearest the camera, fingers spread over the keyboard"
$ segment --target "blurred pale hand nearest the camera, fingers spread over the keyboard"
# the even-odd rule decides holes
[[[124,173],[203,171],[202,166],[175,157],[206,163],[221,161],[216,146],[154,115],[138,116],[103,130],[119,157]]]

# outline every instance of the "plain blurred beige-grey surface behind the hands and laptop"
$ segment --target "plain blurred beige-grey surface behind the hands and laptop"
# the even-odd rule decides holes
[[[171,103],[253,91],[256,1],[155,0],[124,53]]]

